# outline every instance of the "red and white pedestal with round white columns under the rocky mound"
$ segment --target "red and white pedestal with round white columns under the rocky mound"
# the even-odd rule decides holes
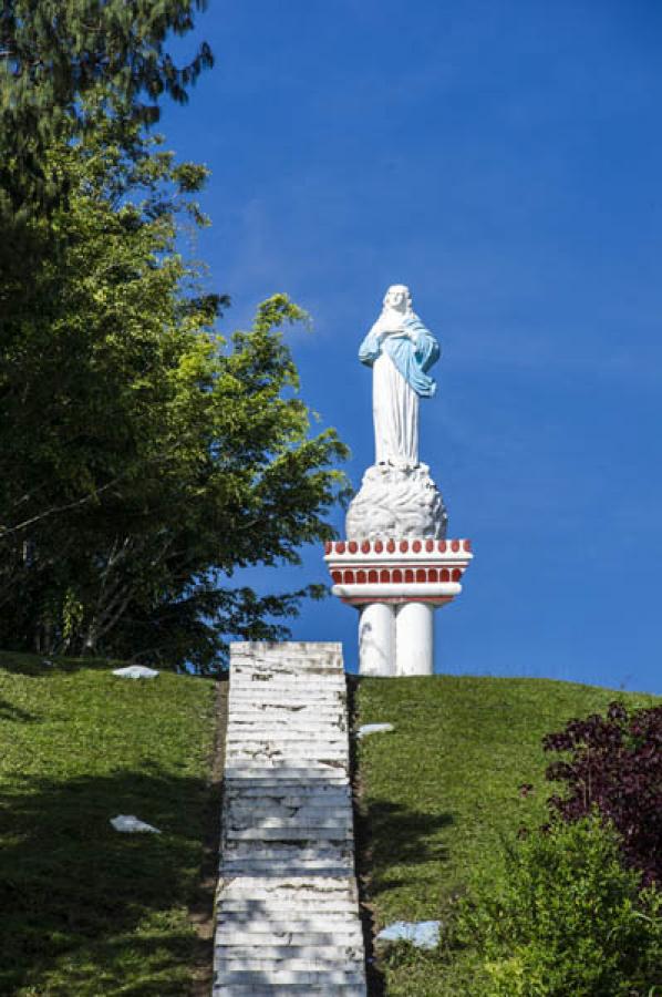
[[[360,610],[359,671],[432,675],[434,610],[462,592],[468,539],[338,541],[325,545],[331,592]]]

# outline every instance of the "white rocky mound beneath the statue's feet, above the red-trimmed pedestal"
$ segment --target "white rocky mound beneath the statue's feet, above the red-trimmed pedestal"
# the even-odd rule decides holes
[[[345,520],[348,539],[444,539],[448,515],[427,464],[373,464],[363,475]]]

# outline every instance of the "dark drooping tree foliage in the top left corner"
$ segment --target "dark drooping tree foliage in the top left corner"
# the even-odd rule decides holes
[[[117,119],[151,123],[158,99],[186,100],[211,65],[203,43],[177,65],[168,40],[207,0],[4,0],[0,12],[0,209],[22,218],[63,193],[46,150],[90,127],[86,97],[103,91]]]

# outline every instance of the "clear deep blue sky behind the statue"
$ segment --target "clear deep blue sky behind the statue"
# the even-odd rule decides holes
[[[211,0],[198,34],[216,68],[163,131],[213,171],[199,255],[227,328],[275,291],[312,314],[302,394],[355,487],[389,284],[441,340],[422,459],[476,558],[436,670],[662,692],[662,6]],[[308,580],[317,549],[259,577]],[[329,598],[293,637],[354,669],[355,629]]]

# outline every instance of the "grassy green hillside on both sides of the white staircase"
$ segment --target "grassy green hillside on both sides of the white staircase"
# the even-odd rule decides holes
[[[447,918],[503,835],[544,820],[542,736],[614,697],[659,701],[536,679],[359,680],[356,722],[395,724],[358,749],[375,927]],[[215,726],[213,682],[134,682],[110,665],[0,654],[2,997],[208,993],[210,949],[192,905],[208,908],[199,875],[218,823]],[[163,833],[118,834],[118,813]],[[382,986],[393,997],[468,994],[470,954],[454,958],[400,947],[380,962]]]

